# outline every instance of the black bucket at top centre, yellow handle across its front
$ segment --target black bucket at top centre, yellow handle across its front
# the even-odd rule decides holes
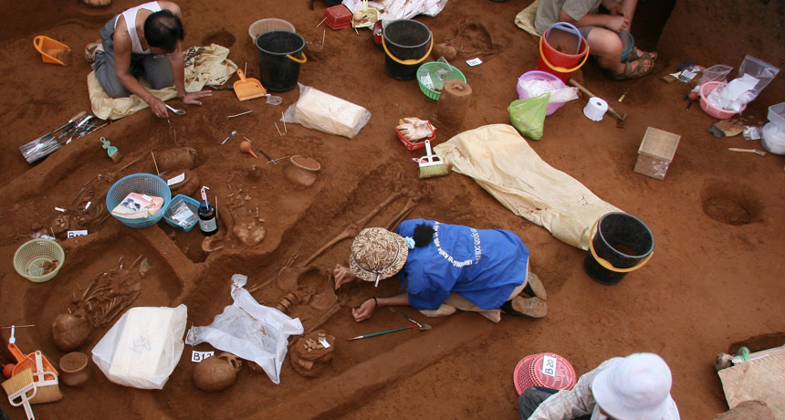
[[[411,80],[434,47],[431,29],[411,19],[393,20],[384,27],[384,68],[393,79]]]

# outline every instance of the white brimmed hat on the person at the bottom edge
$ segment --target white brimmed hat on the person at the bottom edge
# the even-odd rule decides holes
[[[634,353],[598,373],[591,392],[612,417],[660,420],[668,407],[671,383],[671,370],[662,357]]]

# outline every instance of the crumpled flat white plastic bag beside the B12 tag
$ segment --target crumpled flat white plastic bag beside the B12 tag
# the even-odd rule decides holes
[[[281,365],[287,355],[288,337],[302,334],[302,322],[280,310],[262,306],[243,286],[247,277],[232,276],[232,299],[235,302],[215,316],[206,327],[191,327],[185,342],[196,345],[209,342],[218,350],[256,362],[273,383],[280,383]]]

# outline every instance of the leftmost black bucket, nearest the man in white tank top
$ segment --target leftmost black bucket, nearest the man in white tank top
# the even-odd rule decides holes
[[[289,31],[268,31],[254,41],[259,55],[262,85],[273,92],[297,86],[299,65],[306,62],[305,39]]]

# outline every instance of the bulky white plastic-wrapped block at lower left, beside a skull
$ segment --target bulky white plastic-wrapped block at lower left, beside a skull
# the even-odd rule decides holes
[[[101,372],[113,383],[162,389],[183,354],[188,309],[131,308],[93,348]]]

